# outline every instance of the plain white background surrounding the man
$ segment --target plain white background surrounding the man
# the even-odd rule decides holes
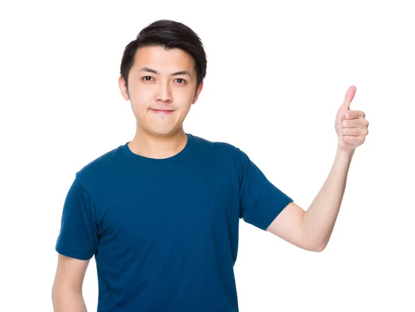
[[[122,52],[157,19],[190,26],[208,55],[185,131],[238,146],[304,209],[333,164],[349,86],[369,121],[322,253],[241,220],[240,311],[415,311],[411,1],[287,3],[1,4],[0,311],[53,311],[66,193],[77,170],[133,138]],[[84,299],[95,311],[94,260]]]

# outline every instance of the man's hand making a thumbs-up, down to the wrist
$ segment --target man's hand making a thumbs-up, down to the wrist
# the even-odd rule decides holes
[[[350,86],[335,117],[335,132],[338,135],[338,148],[347,152],[354,152],[355,148],[365,142],[369,121],[361,110],[350,110],[351,100],[356,93],[356,87]]]

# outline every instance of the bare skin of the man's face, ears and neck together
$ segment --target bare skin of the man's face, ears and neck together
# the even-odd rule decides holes
[[[172,75],[183,71],[188,75]],[[128,90],[122,77],[118,84],[136,117],[136,135],[128,144],[131,151],[157,159],[180,152],[187,142],[183,121],[203,88],[200,84],[196,90],[192,57],[178,48],[140,48],[129,72]],[[157,109],[173,112],[158,113]]]

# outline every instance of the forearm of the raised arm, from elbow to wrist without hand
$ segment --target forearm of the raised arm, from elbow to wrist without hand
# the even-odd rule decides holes
[[[346,152],[338,148],[326,182],[304,213],[303,233],[318,251],[325,248],[333,232],[342,204],[353,153],[354,151]]]

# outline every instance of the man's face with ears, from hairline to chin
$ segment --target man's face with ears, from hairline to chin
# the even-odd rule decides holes
[[[181,130],[203,88],[201,84],[195,90],[192,57],[181,49],[161,46],[138,49],[128,81],[128,92],[124,79],[118,81],[122,97],[131,103],[137,130],[151,135],[172,135]]]

